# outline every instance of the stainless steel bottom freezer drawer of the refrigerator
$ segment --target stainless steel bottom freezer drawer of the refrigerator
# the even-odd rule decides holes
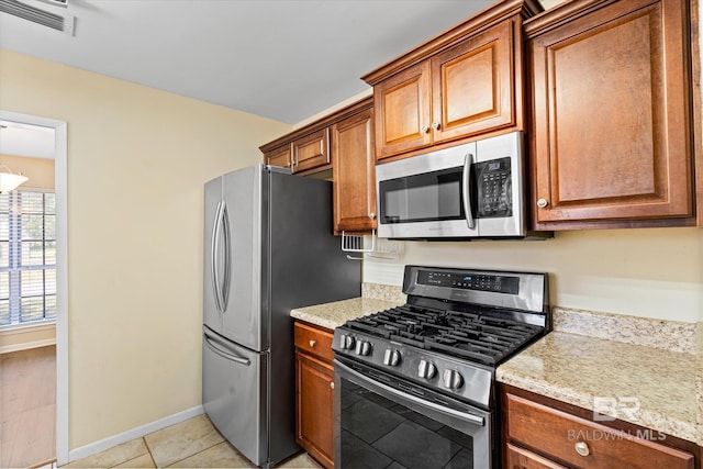
[[[220,433],[257,466],[268,459],[268,353],[254,353],[203,326],[202,401]]]

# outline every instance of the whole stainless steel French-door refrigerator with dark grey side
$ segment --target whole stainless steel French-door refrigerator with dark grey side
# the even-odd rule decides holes
[[[332,233],[332,183],[257,165],[205,185],[202,401],[241,453],[293,455],[290,311],[360,295],[360,266]]]

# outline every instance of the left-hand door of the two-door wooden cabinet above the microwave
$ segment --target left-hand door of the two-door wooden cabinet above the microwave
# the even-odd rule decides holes
[[[373,87],[378,159],[432,144],[429,88],[428,62]]]

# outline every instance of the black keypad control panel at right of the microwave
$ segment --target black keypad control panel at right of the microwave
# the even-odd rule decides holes
[[[510,157],[475,164],[479,219],[513,215]]]

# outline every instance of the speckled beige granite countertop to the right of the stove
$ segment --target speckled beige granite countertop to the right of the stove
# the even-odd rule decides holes
[[[696,355],[551,332],[503,365],[500,382],[696,444]],[[606,412],[607,409],[613,412]]]

